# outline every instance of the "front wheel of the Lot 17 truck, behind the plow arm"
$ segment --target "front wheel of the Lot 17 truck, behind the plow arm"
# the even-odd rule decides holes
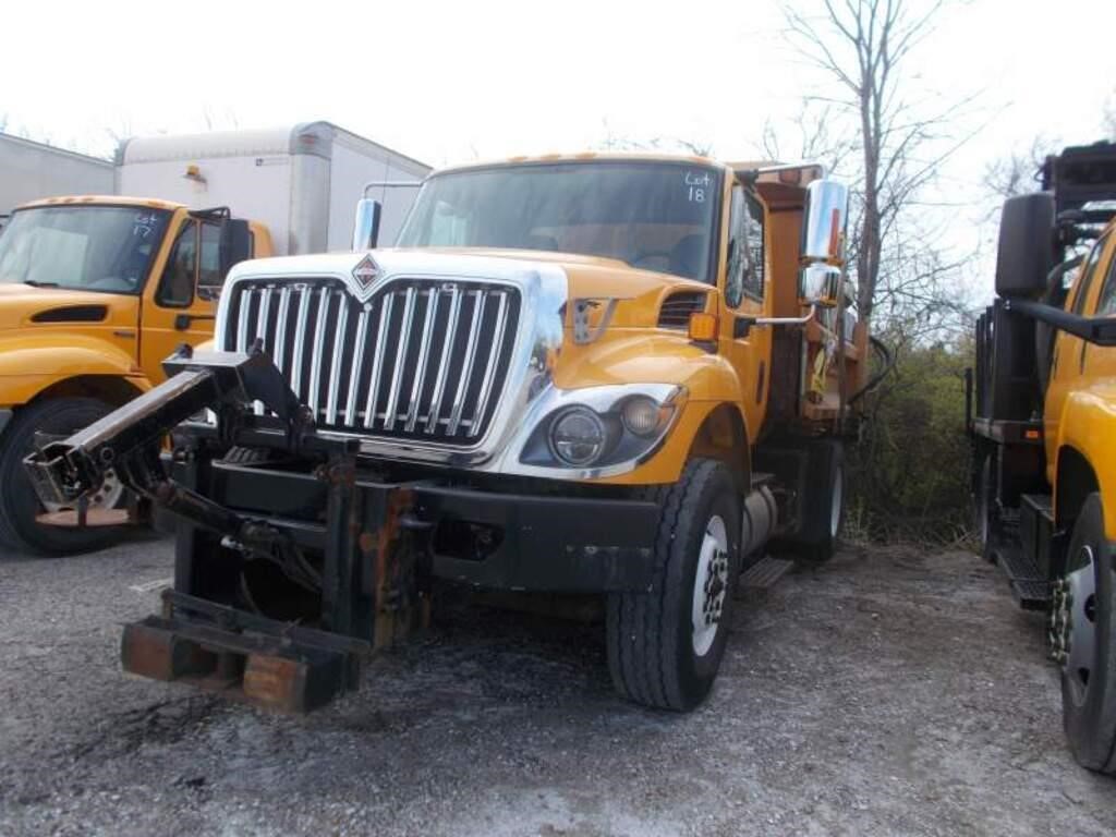
[[[47,398],[16,412],[0,437],[0,543],[32,555],[74,555],[103,549],[119,537],[122,527],[67,529],[36,522],[42,503],[23,470],[37,431],[70,434],[110,410],[96,398]],[[123,488],[112,488],[107,504],[122,504],[123,494]]]

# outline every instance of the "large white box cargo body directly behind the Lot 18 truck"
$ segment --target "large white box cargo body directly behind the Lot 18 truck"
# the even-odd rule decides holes
[[[353,208],[371,182],[417,182],[426,166],[327,122],[264,131],[151,136],[117,152],[118,194],[191,208],[234,204],[271,230],[278,254],[348,250]],[[381,239],[394,241],[414,189],[372,190]]]

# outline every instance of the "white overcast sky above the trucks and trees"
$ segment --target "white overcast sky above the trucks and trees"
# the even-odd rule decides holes
[[[751,158],[766,121],[821,89],[782,29],[775,0],[13,0],[0,119],[102,154],[112,133],[324,118],[435,166],[609,135]],[[907,67],[941,100],[978,94],[941,189],[971,204],[988,163],[1035,135],[1098,138],[1114,35],[1112,0],[955,0]]]

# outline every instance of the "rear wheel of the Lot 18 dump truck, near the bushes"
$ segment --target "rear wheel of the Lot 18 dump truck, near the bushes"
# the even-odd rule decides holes
[[[837,551],[845,521],[845,446],[827,439],[811,442],[808,451],[808,481],[795,551],[811,564],[824,564]]]

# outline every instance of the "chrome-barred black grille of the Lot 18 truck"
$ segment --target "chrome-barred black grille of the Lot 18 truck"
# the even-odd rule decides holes
[[[482,281],[395,279],[360,302],[336,279],[253,279],[229,306],[222,347],[262,338],[318,426],[464,446],[496,412],[520,300]]]

